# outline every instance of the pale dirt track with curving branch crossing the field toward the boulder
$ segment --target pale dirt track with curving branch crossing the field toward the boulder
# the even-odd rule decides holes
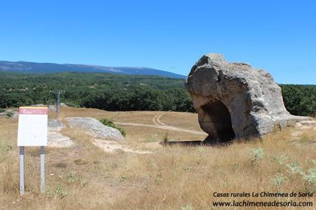
[[[149,124],[135,124],[135,123],[125,123],[125,122],[118,122],[116,121],[115,124],[118,124],[120,126],[142,126],[142,127],[148,127],[148,128],[158,128],[163,130],[171,130],[171,131],[177,131],[177,132],[188,132],[194,135],[205,135],[205,132],[196,131],[196,130],[187,130],[183,128],[177,128],[173,126],[166,126],[166,124],[163,124],[160,121],[160,117],[164,115],[165,113],[155,115],[153,118],[153,122],[155,125],[149,125]]]

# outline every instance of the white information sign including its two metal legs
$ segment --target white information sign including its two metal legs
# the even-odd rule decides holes
[[[45,154],[47,145],[47,107],[20,107],[18,146],[20,150],[20,194],[24,194],[25,146],[41,147],[41,192],[45,191]]]

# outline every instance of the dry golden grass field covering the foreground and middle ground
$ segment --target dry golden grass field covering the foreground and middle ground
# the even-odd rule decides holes
[[[238,140],[225,147],[163,146],[159,141],[166,135],[173,141],[204,139],[196,114],[63,108],[61,118],[65,117],[111,118],[126,130],[124,145],[150,153],[104,152],[86,132],[67,128],[63,133],[74,140],[74,146],[45,149],[45,194],[39,191],[39,149],[25,149],[26,191],[20,196],[17,119],[1,117],[0,209],[227,209],[213,207],[212,202],[232,200],[308,201],[314,205],[309,209],[315,209],[315,127],[289,128],[262,140]],[[173,130],[168,131],[168,126]],[[307,198],[214,197],[214,192],[243,191],[314,194]]]

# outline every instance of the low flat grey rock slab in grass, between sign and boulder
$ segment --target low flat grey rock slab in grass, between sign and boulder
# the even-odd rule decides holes
[[[95,138],[111,141],[124,140],[120,130],[104,126],[98,119],[92,117],[68,117],[66,120],[71,128],[82,128]]]

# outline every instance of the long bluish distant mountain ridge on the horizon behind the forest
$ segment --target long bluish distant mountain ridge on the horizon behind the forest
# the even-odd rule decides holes
[[[159,75],[167,78],[185,78],[185,75],[151,69],[147,67],[103,67],[97,65],[56,64],[48,62],[11,62],[0,61],[0,71],[15,73],[58,73],[58,72],[88,72],[88,73],[118,73],[127,75]]]

